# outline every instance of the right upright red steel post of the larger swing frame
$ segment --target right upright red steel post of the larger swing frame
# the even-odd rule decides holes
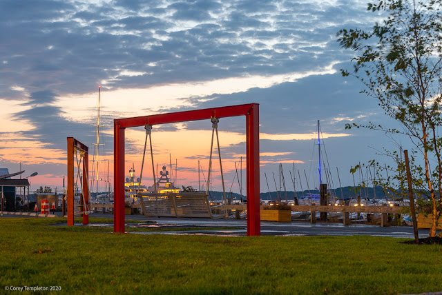
[[[246,115],[247,136],[247,236],[260,236],[260,130],[259,105]]]

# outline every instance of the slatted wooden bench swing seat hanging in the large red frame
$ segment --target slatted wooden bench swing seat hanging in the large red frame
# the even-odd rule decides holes
[[[214,218],[209,196],[204,192],[155,193],[139,192],[146,217]]]

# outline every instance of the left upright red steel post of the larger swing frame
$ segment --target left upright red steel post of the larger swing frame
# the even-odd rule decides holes
[[[114,120],[113,231],[124,233],[124,129]]]

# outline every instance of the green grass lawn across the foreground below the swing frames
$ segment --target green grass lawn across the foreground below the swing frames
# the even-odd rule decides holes
[[[110,234],[52,225],[61,222],[66,219],[0,218],[1,289],[61,286],[57,294],[442,291],[441,245],[373,236]]]

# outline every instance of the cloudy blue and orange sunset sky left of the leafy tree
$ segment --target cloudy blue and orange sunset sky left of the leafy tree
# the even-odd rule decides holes
[[[21,161],[25,176],[39,172],[32,189],[60,190],[66,137],[93,153],[101,85],[100,173],[108,165],[113,172],[113,119],[260,103],[263,192],[265,173],[270,190],[272,172],[279,183],[279,163],[287,190],[293,163],[297,190],[298,181],[307,189],[305,174],[310,188],[318,186],[318,120],[334,187],[336,167],[350,185],[352,165],[393,143],[381,133],[345,130],[353,121],[385,121],[358,81],[339,73],[352,52],[339,47],[336,32],[372,26],[378,15],[365,8],[362,0],[2,0],[0,167],[16,172]],[[227,190],[245,156],[244,125],[242,117],[219,124]],[[155,162],[169,164],[171,154],[178,185],[198,187],[198,160],[206,170],[210,143],[209,121],[153,130]],[[142,128],[126,131],[126,170],[134,163],[140,172],[143,144]],[[221,190],[218,165],[214,174],[213,189]]]

